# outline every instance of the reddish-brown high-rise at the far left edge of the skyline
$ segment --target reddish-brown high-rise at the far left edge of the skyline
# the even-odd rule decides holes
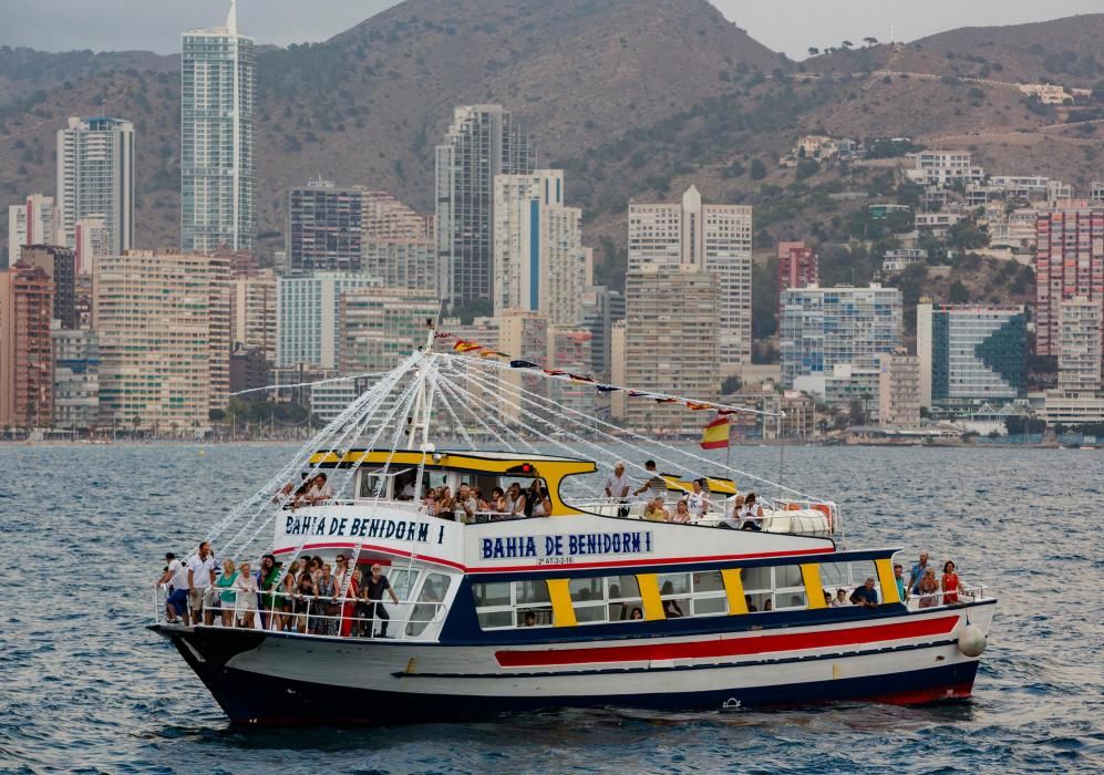
[[[53,420],[53,282],[17,261],[0,272],[0,426],[49,427]]]

